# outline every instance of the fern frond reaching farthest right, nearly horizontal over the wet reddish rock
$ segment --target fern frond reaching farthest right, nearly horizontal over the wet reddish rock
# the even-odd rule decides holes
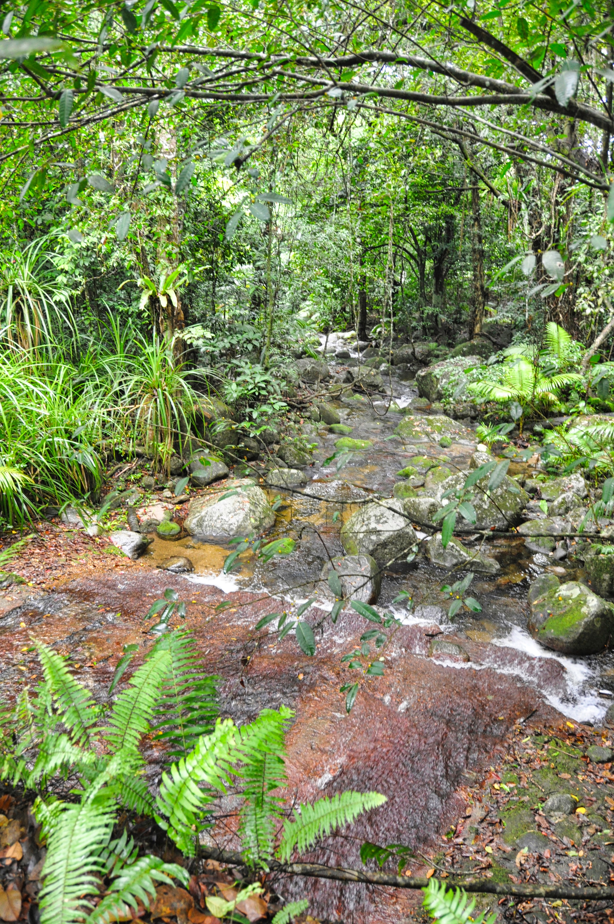
[[[387,801],[381,793],[338,793],[312,805],[301,805],[301,814],[294,809],[294,821],[284,823],[284,833],[277,856],[288,862],[296,849],[303,853],[320,838],[355,821],[363,811],[370,811]]]

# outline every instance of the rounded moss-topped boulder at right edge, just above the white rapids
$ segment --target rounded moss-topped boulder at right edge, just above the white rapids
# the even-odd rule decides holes
[[[596,654],[614,632],[614,605],[577,581],[545,590],[530,605],[529,631],[561,654]]]

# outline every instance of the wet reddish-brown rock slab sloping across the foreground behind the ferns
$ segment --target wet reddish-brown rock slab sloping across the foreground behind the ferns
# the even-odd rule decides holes
[[[243,723],[282,703],[295,711],[288,736],[293,800],[312,801],[345,789],[387,796],[382,808],[314,851],[314,860],[360,868],[364,840],[427,849],[464,809],[459,793],[463,773],[485,767],[519,719],[535,710],[544,720],[557,715],[514,676],[479,669],[476,663],[452,667],[425,657],[431,641],[425,629],[432,631],[432,626],[399,629],[386,650],[385,675],[363,679],[347,715],[339,687],[356,672],[341,664],[340,656],[364,631],[358,614],[341,614],[336,626],[326,620],[324,631],[316,630],[318,648],[309,658],[293,638],[278,644],[266,629],[254,633],[263,614],[281,609],[279,601],[244,591],[225,595],[184,577],[144,569],[84,574],[57,593],[6,613],[0,618],[0,677],[12,680],[17,690],[37,674],[31,654],[27,671],[19,670],[21,648],[31,644],[31,634],[69,653],[80,663],[84,682],[102,697],[123,645],[138,640],[144,653],[152,644],[143,617],[167,587],[178,590],[187,603],[185,625],[194,632],[207,669],[223,678],[223,714]],[[232,605],[215,612],[222,600]],[[308,615],[314,623],[324,614]],[[485,659],[488,646],[455,640],[471,649],[474,659]],[[154,782],[156,755],[147,756]],[[227,846],[234,846],[231,839]],[[420,899],[355,883],[284,881],[278,883],[280,890],[282,885],[286,896],[309,895],[314,917],[345,924],[398,922]]]

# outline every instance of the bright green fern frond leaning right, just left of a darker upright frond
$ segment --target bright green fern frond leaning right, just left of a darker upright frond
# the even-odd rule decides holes
[[[166,683],[170,653],[151,651],[141,667],[130,677],[129,687],[121,691],[109,715],[104,738],[113,750],[137,749],[141,736],[149,731],[160,688]]]

